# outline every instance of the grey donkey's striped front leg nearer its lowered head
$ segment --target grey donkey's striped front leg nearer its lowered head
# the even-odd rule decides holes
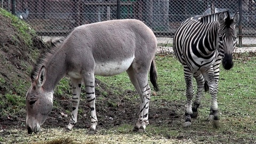
[[[70,118],[69,124],[66,127],[67,130],[71,131],[71,129],[75,126],[77,122],[77,114],[78,114],[78,105],[80,101],[80,94],[81,94],[81,83],[82,79],[77,79],[77,78],[70,78],[71,79],[71,84],[72,84],[72,90],[73,90],[73,95],[72,95],[72,116]]]

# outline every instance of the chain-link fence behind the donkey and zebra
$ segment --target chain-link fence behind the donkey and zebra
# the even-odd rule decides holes
[[[39,35],[66,35],[79,25],[120,18],[139,19],[156,36],[172,37],[180,23],[194,15],[240,12],[239,40],[256,46],[255,0],[1,0],[1,7],[11,11],[12,1],[15,14]]]

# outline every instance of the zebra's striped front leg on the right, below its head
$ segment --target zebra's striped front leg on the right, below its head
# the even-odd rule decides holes
[[[210,68],[210,70],[206,72],[204,78],[208,82],[209,92],[212,97],[209,120],[213,123],[214,127],[219,127],[219,109],[217,101],[218,82],[215,81],[213,68]]]

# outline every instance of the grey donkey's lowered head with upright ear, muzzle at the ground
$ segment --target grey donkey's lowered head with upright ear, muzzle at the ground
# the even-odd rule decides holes
[[[49,113],[52,110],[53,92],[44,90],[43,85],[46,79],[46,70],[43,66],[39,74],[31,77],[32,84],[26,95],[28,133],[38,132]]]

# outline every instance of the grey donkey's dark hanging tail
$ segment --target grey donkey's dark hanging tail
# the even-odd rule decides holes
[[[150,82],[154,86],[155,91],[159,91],[159,87],[157,84],[157,70],[156,70],[155,58],[151,62],[149,78],[150,78]]]

